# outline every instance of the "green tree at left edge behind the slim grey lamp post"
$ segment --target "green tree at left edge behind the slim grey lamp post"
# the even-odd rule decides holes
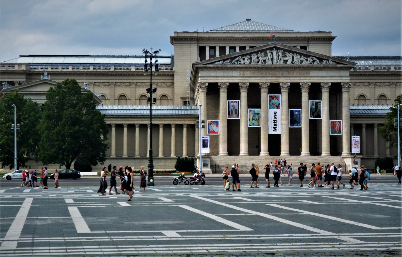
[[[14,107],[17,109],[17,168],[26,167],[30,156],[37,156],[40,140],[37,125],[41,120],[41,108],[30,98],[18,93],[18,90],[5,93],[0,100],[0,162],[3,166],[14,167]]]

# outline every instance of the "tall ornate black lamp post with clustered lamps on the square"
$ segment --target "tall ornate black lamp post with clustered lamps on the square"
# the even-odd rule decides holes
[[[142,53],[145,55],[145,64],[144,64],[144,75],[147,75],[150,73],[150,87],[147,88],[147,93],[150,95],[150,97],[147,97],[147,103],[150,105],[150,150],[149,150],[149,159],[148,159],[148,185],[153,185],[154,181],[150,181],[151,178],[154,177],[154,159],[152,158],[152,105],[156,103],[156,98],[152,97],[152,94],[156,93],[156,88],[152,89],[152,67],[155,65],[155,75],[158,74],[159,69],[158,69],[158,53],[160,52],[160,49],[156,51],[152,51],[152,48],[150,48],[150,51],[142,50]],[[149,58],[149,62],[147,60]],[[155,58],[155,62],[152,63],[152,58]],[[148,70],[149,67],[149,70]],[[152,183],[150,183],[152,182]]]

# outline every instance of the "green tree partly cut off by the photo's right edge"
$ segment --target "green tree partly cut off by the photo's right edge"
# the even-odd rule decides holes
[[[394,118],[398,118],[398,105],[402,103],[402,96],[399,95],[394,100],[396,105],[390,107],[390,111],[386,115],[386,122],[384,125],[379,126],[378,130],[381,137],[385,139],[386,142],[390,142],[390,146],[398,147],[398,128],[394,127]],[[400,109],[402,109],[400,107]],[[402,118],[401,113],[399,117]]]

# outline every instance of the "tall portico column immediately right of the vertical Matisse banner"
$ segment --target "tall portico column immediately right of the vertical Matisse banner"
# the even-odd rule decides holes
[[[281,156],[289,154],[289,99],[290,82],[281,82]]]

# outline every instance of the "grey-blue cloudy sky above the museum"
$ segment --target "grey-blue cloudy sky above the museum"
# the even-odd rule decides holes
[[[332,31],[332,55],[401,55],[400,0],[0,0],[0,60],[24,54],[174,53],[173,31],[250,18],[294,31]]]

